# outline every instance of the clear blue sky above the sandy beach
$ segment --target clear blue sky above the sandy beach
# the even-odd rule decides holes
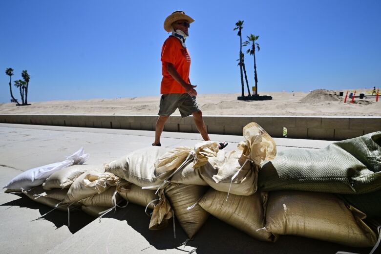
[[[241,91],[238,20],[259,35],[259,94],[381,86],[380,0],[1,0],[0,102],[8,67],[13,80],[28,70],[29,102],[159,95],[174,10],[196,20],[187,46],[199,94]],[[253,57],[245,63],[254,85]]]

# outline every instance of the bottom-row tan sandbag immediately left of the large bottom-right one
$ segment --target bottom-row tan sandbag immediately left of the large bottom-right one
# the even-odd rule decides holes
[[[265,212],[261,194],[259,192],[250,196],[230,194],[226,200],[226,192],[210,189],[198,204],[214,217],[257,240],[275,241],[274,235],[265,230]],[[263,193],[263,195],[267,194]]]

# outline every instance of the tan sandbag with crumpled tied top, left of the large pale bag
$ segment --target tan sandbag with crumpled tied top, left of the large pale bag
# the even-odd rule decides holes
[[[118,181],[119,177],[110,172],[87,171],[74,180],[63,203],[71,204],[94,194],[101,194],[110,186],[116,186]]]

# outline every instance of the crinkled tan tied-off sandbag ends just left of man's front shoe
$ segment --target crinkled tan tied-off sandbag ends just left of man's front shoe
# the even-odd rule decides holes
[[[208,162],[209,157],[214,157],[218,152],[218,144],[213,141],[197,143],[194,148],[178,147],[163,154],[156,162],[157,174],[177,169],[187,158],[192,157],[193,167],[198,168]]]

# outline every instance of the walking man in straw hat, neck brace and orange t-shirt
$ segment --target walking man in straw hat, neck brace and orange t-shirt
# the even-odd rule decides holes
[[[194,123],[202,138],[210,140],[202,112],[196,102],[196,85],[191,85],[189,70],[191,56],[185,45],[189,36],[190,23],[194,20],[183,11],[175,11],[164,21],[164,29],[172,32],[164,42],[161,51],[162,74],[160,93],[159,118],[156,122],[155,142],[152,146],[161,146],[160,136],[169,116],[179,109],[181,116],[193,115]],[[218,148],[223,149],[228,143],[219,143]]]

